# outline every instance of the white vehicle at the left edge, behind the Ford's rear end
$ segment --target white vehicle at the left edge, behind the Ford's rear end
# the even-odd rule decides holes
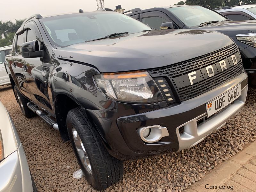
[[[0,85],[10,84],[10,78],[5,70],[4,58],[10,54],[12,45],[0,47]]]

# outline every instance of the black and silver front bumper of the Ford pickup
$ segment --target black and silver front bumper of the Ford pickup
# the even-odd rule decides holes
[[[238,84],[241,84],[241,96],[218,114],[202,122],[202,118],[206,115],[206,103]],[[117,103],[115,110],[101,111],[98,117],[95,116],[95,111],[88,112],[93,117],[112,156],[120,160],[145,158],[187,149],[204,140],[207,135],[218,130],[230,117],[240,111],[246,100],[247,89],[247,75],[243,72],[224,84],[193,99],[181,102],[181,104],[151,109],[142,113],[139,110],[136,111],[136,108],[141,106],[133,106],[135,114],[127,116],[124,115],[124,111],[128,107],[121,103]],[[117,114],[122,114],[122,116],[116,118]],[[167,127],[169,136],[155,143],[143,142],[137,129],[153,125]],[[183,127],[184,131],[180,133],[179,129]]]

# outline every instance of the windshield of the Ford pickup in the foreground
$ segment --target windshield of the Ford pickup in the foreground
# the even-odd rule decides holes
[[[40,19],[53,44],[68,46],[115,33],[152,30],[147,25],[117,12],[85,12]]]

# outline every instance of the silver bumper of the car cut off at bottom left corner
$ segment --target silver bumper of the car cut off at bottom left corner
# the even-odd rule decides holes
[[[22,144],[0,162],[0,192],[33,192],[32,180]]]

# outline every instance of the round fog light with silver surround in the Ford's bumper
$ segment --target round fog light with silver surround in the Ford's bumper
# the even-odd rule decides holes
[[[147,143],[154,143],[169,135],[167,128],[160,125],[141,127],[137,131],[140,138]]]

